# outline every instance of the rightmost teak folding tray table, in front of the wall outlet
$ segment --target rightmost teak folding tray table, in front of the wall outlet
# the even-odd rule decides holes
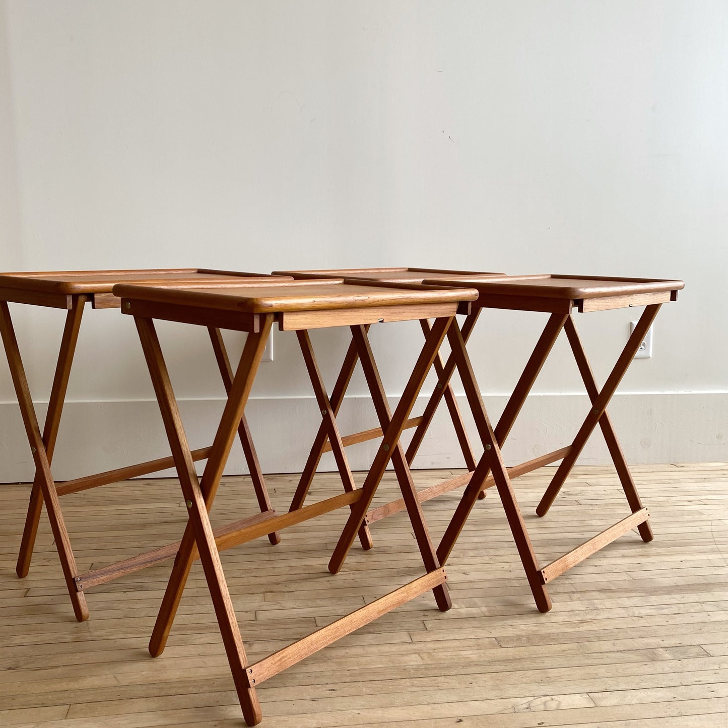
[[[547,584],[553,579],[631,529],[637,528],[645,542],[649,542],[653,538],[652,529],[650,529],[648,523],[649,512],[641,503],[625,456],[622,453],[622,448],[617,441],[617,436],[614,434],[614,428],[606,407],[638,351],[641,342],[644,340],[647,331],[649,331],[649,327],[657,316],[660,306],[668,301],[675,301],[678,290],[684,287],[684,282],[681,280],[572,275],[527,275],[500,278],[465,276],[449,281],[441,278],[432,281],[436,281],[438,285],[464,285],[468,288],[478,289],[478,300],[472,304],[472,311],[464,322],[463,331],[472,329],[473,317],[477,316],[480,309],[483,308],[547,312],[550,314],[544,331],[528,363],[526,363],[526,367],[523,369],[521,378],[518,380],[495,430],[491,427],[486,408],[480,397],[480,389],[472,373],[470,358],[464,348],[464,336],[459,331],[457,324],[452,325],[448,330],[452,354],[445,365],[441,381],[443,379],[447,381],[457,366],[485,450],[475,468],[475,472],[467,474],[469,480],[467,488],[465,488],[462,499],[438,546],[438,561],[441,565],[444,565],[462,531],[465,521],[467,521],[470,510],[475,505],[478,494],[486,488],[496,486],[534,600],[541,612],[547,612],[551,608]],[[579,340],[572,313],[574,309],[579,313],[587,313],[637,306],[645,306],[644,312],[641,314],[638,324],[630,335],[620,357],[618,357],[617,363],[614,365],[612,373],[609,374],[604,387],[599,389],[585,350]],[[590,412],[570,446],[515,467],[506,468],[502,461],[501,448],[561,329],[566,331],[571,351],[574,354],[579,373],[590,398]],[[526,524],[521,516],[521,510],[515,499],[510,478],[537,470],[537,468],[557,460],[562,461],[537,507],[538,515],[546,515],[597,424],[601,427],[609,453],[617,468],[631,515],[610,526],[561,558],[557,558],[547,566],[539,566]],[[352,526],[355,526],[355,524],[352,523]],[[341,568],[341,563],[343,563],[350,545],[350,541],[340,539],[336,551],[339,558],[332,564],[333,569]]]

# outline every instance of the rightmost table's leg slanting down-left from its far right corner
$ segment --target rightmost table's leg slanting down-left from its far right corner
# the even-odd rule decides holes
[[[619,386],[620,381],[622,381],[622,377],[625,376],[625,372],[632,363],[634,355],[637,353],[642,341],[644,341],[644,337],[649,331],[649,327],[652,325],[654,317],[657,316],[657,312],[660,310],[660,305],[661,304],[652,304],[645,307],[643,314],[632,332],[632,335],[625,345],[625,348],[622,349],[622,354],[620,354],[619,359],[617,359],[617,363],[614,365],[612,373],[609,374],[606,384],[604,384],[601,392],[599,392],[598,397],[593,400],[592,409],[583,422],[582,427],[579,428],[579,432],[577,432],[574,442],[571,443],[571,450],[569,451],[569,454],[561,461],[561,465],[558,466],[545,494],[542,496],[541,502],[539,502],[539,505],[536,508],[536,513],[538,515],[543,516],[548,513],[548,510],[553,504],[558,492],[561,490],[561,486],[563,486],[564,480],[566,480],[569,472],[571,472],[571,469],[577,462],[587,440],[590,438],[591,433],[594,431],[594,428],[604,414],[606,405],[609,404],[609,400],[612,399],[612,395],[614,395],[614,392],[617,391],[617,387]]]

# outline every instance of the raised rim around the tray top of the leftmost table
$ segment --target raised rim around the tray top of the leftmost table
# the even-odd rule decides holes
[[[182,283],[184,280],[194,282],[194,277],[200,274],[218,276],[224,282],[227,277],[238,278],[270,278],[268,273],[251,273],[225,271],[210,268],[139,268],[139,269],[111,269],[111,270],[77,270],[77,271],[25,271],[0,273],[1,288],[19,288],[39,293],[62,293],[66,295],[80,293],[111,293],[114,285],[124,281],[126,276],[149,274],[149,281],[163,282],[162,277],[173,274],[189,274],[188,279],[176,279]],[[100,277],[103,280],[82,281],[81,277]],[[111,279],[111,280],[109,280]],[[215,279],[207,279],[212,281]]]

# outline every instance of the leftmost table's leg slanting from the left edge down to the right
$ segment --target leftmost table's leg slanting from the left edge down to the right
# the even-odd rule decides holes
[[[10,311],[5,301],[0,301],[0,334],[10,367],[12,383],[17,395],[17,403],[20,406],[20,414],[23,416],[25,433],[28,435],[28,443],[30,443],[31,452],[33,453],[36,474],[40,474],[41,494],[46,503],[46,510],[50,520],[53,538],[55,539],[55,547],[58,550],[60,566],[63,569],[63,577],[66,579],[68,596],[71,597],[71,604],[74,607],[76,620],[83,622],[89,616],[88,606],[83,593],[76,590],[75,579],[79,573],[76,568],[76,559],[71,549],[71,540],[68,538],[66,523],[63,521],[63,512],[60,510],[55,482],[50,472],[50,462],[41,436],[36,411],[33,408],[33,399],[28,388],[28,379],[25,376],[23,360],[20,358],[20,349],[17,347],[17,339],[12,326]]]

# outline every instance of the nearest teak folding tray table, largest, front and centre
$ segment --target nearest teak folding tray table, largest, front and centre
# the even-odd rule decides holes
[[[161,654],[165,648],[191,563],[198,555],[213,598],[223,644],[248,725],[255,725],[261,720],[256,687],[281,670],[427,590],[433,591],[441,610],[450,608],[451,603],[445,583],[447,577],[437,561],[435,547],[430,539],[399,439],[424,379],[438,354],[440,344],[454,321],[456,310],[463,302],[476,298],[478,296],[476,290],[369,281],[352,283],[328,279],[288,283],[261,282],[250,286],[195,290],[171,290],[124,284],[115,286],[114,294],[122,298],[122,312],[135,317],[178,470],[183,497],[189,509],[189,522],[149,644],[149,651],[153,656]],[[392,414],[369,345],[368,326],[383,321],[419,320],[425,317],[434,318],[435,323],[427,333],[414,371]],[[229,389],[228,400],[201,479],[197,477],[194,469],[193,456],[162,357],[154,319],[248,332],[248,339],[232,387]],[[210,526],[208,513],[213,506],[237,423],[240,422],[245,409],[274,320],[283,331],[303,332],[306,337],[306,331],[312,328],[333,326],[351,328],[384,437],[362,488],[356,488],[352,483],[351,488],[339,496],[300,507],[285,515],[268,518],[255,526],[241,527],[239,523],[232,524],[224,529],[224,535],[216,536]],[[304,347],[304,360],[312,381],[318,383],[317,401],[322,411],[325,411],[325,417],[333,423],[333,428],[336,430],[333,406],[320,379],[309,341]],[[427,573],[250,665],[245,655],[218,551],[248,542],[274,529],[283,529],[347,506],[351,508],[351,516],[347,521],[349,529],[347,537],[350,536],[353,540],[390,459],[397,472],[397,479]],[[350,524],[353,521],[356,521],[357,525],[352,531]]]

